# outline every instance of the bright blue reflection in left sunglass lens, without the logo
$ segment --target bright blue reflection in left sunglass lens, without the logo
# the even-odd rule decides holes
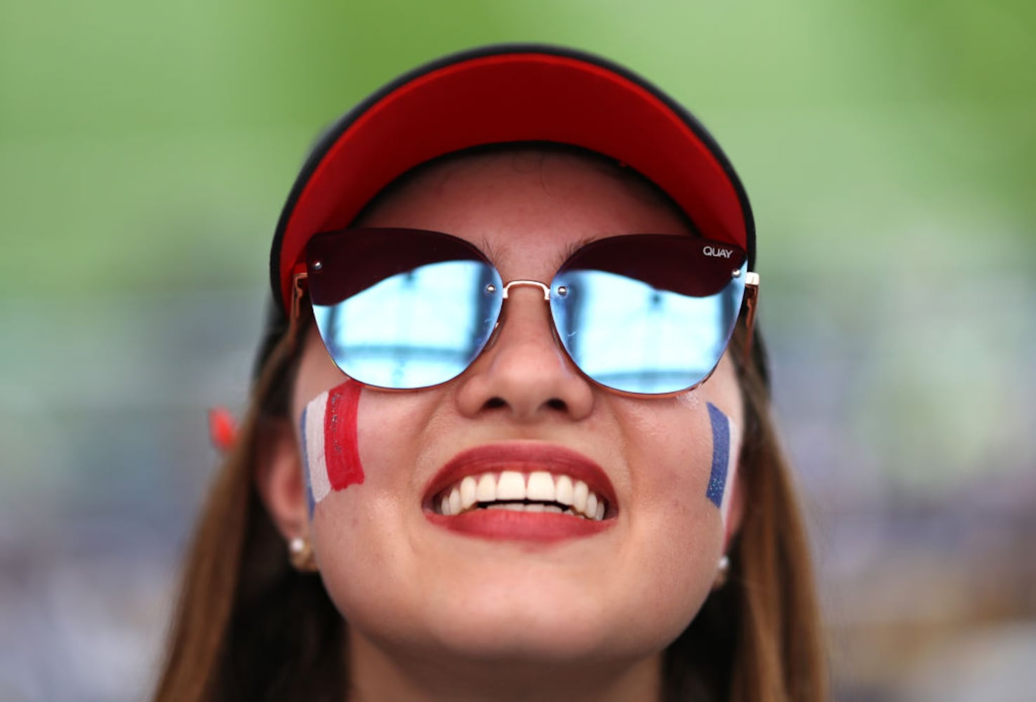
[[[485,346],[502,285],[481,261],[445,261],[392,275],[330,305],[314,303],[332,357],[371,385],[414,388],[459,375]]]

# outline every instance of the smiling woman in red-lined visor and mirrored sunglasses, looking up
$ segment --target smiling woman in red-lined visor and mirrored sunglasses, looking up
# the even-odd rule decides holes
[[[425,66],[270,267],[157,699],[824,699],[751,214],[679,106],[557,49]]]

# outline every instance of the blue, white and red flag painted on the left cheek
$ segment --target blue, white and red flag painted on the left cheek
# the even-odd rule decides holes
[[[310,519],[332,492],[364,481],[357,419],[361,386],[351,380],[333,387],[303,410],[301,445]]]

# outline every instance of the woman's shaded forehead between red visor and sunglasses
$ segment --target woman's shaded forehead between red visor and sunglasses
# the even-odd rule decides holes
[[[572,250],[620,234],[689,234],[686,217],[640,176],[601,157],[507,149],[449,157],[407,174],[356,223],[464,238],[501,273],[559,264]],[[552,272],[552,271],[547,271]]]

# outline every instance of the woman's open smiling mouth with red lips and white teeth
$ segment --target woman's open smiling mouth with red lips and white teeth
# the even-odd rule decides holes
[[[601,467],[549,444],[499,443],[463,451],[439,470],[425,494],[432,523],[486,537],[588,535],[617,516],[614,490]]]

